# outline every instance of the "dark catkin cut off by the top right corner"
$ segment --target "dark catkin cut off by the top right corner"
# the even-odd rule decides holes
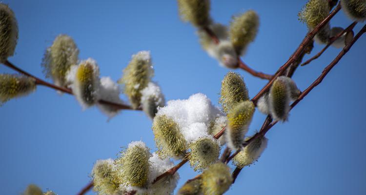
[[[366,20],[366,0],[341,0],[342,10],[355,21]]]

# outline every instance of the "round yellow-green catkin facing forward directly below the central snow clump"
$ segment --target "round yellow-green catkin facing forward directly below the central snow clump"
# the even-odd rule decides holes
[[[215,163],[220,155],[219,142],[213,137],[202,137],[188,145],[191,149],[189,164],[194,171],[207,168]]]

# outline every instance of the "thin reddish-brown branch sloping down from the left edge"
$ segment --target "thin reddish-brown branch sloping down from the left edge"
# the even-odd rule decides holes
[[[61,91],[63,93],[66,93],[66,94],[70,94],[70,95],[73,95],[72,93],[72,90],[71,89],[68,89],[68,88],[65,88],[65,87],[60,87],[60,86],[57,86],[57,85],[54,85],[52,83],[49,83],[41,78],[38,78],[22,69],[20,69],[19,67],[15,66],[13,63],[11,63],[10,61],[6,60],[5,62],[3,62],[3,64],[25,76],[28,76],[28,77],[31,77],[31,78],[34,78],[36,80],[36,84],[37,85],[43,85],[43,86],[46,86],[46,87],[49,87],[49,88],[52,88],[52,89],[55,89],[55,90],[58,90],[58,91]],[[107,101],[107,100],[103,100],[103,99],[100,99],[98,100],[99,103],[101,104],[105,104],[105,105],[109,105],[109,106],[113,106],[117,109],[120,109],[120,110],[134,110],[131,108],[131,106],[128,106],[128,105],[125,105],[125,104],[120,104],[120,103],[114,103],[114,102],[111,102],[111,101]],[[141,110],[141,108],[138,108],[136,110]]]

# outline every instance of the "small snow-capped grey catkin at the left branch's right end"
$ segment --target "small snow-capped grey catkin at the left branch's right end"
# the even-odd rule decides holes
[[[149,82],[147,87],[141,91],[141,105],[145,114],[154,119],[159,107],[165,106],[165,98],[159,85]]]

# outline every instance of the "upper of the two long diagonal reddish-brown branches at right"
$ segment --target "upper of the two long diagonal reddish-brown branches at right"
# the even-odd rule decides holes
[[[285,72],[285,70],[292,64],[294,63],[299,57],[300,55],[303,53],[304,49],[306,48],[306,46],[308,45],[308,43],[310,41],[312,41],[312,39],[314,38],[314,36],[316,35],[316,33],[323,27],[325,26],[326,23],[329,22],[330,19],[332,19],[335,14],[341,9],[341,4],[338,3],[337,7],[333,9],[332,12],[330,12],[330,14],[322,21],[320,22],[316,28],[314,28],[314,30],[312,30],[311,32],[309,32],[305,38],[303,39],[303,41],[301,42],[301,44],[299,45],[299,47],[296,49],[295,53],[293,53],[291,55],[291,57],[286,61],[286,63],[284,65],[282,65],[278,71],[276,72],[276,74],[272,77],[272,79],[262,88],[262,90],[254,97],[252,98],[252,101],[254,104],[257,104],[258,99],[269,90],[269,87],[272,85],[272,83],[274,82],[274,80],[283,75],[283,73]]]

